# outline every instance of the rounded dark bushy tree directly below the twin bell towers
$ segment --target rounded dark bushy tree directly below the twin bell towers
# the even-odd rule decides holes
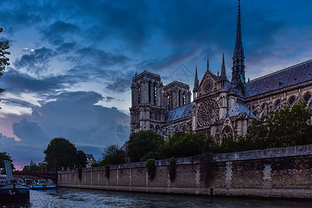
[[[131,135],[128,141],[128,156],[131,162],[139,162],[145,159],[158,159],[158,153],[165,145],[161,135],[152,130],[142,130]]]

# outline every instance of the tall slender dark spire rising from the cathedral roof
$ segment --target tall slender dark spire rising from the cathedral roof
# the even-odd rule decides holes
[[[242,41],[242,28],[240,23],[240,0],[238,0],[238,17],[236,28],[236,43],[233,53],[233,67],[231,88],[245,96],[245,55]]]

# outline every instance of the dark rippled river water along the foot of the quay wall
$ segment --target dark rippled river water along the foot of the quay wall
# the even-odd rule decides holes
[[[1,205],[0,205],[1,207]],[[312,207],[312,201],[68,189],[33,191],[31,200],[2,207]]]

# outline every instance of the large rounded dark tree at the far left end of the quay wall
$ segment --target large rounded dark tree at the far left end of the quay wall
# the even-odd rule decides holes
[[[47,149],[43,151],[46,155],[44,160],[47,162],[47,168],[54,171],[82,166],[83,159],[81,156],[84,153],[81,152],[77,153],[77,149],[72,142],[60,137],[52,139]],[[78,157],[79,161],[77,160]],[[86,161],[87,158],[84,158]]]

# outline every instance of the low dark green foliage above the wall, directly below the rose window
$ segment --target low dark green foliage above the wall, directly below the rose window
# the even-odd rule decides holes
[[[161,150],[161,158],[190,157],[212,150],[215,141],[213,137],[193,132],[176,132]]]

